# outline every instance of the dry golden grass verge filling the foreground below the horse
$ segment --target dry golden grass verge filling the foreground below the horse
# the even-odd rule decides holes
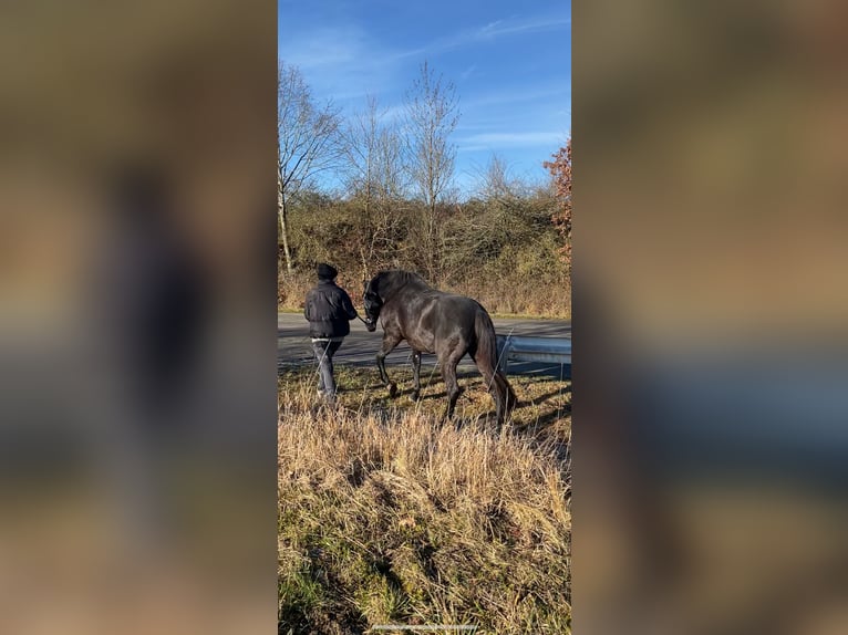
[[[443,425],[437,378],[413,404],[337,375],[332,409],[311,372],[280,377],[280,632],[569,632],[568,384],[513,378],[526,405],[497,429],[478,378]]]

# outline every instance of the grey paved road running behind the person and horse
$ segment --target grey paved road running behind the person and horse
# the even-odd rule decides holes
[[[534,335],[550,337],[570,337],[571,323],[562,320],[493,320],[495,331],[498,334]],[[359,320],[351,322],[351,334],[344,339],[334,361],[340,364],[376,367],[374,355],[380,348],[383,330],[378,326],[374,333],[369,333],[365,325]],[[406,342],[402,342],[385,358],[386,365],[407,364],[411,350]],[[300,313],[277,314],[277,366],[311,364],[312,347],[309,340],[309,324]],[[435,355],[422,355],[422,367],[435,365]],[[461,369],[473,369],[474,363],[466,355],[459,362]],[[539,364],[510,364],[509,372],[539,372],[554,376],[563,376],[560,366]]]

